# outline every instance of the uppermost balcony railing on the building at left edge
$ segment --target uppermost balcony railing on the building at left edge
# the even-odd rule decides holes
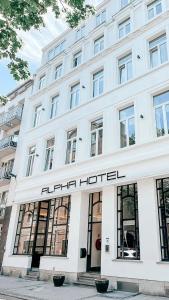
[[[18,105],[0,116],[0,128],[7,130],[21,121],[23,106]]]

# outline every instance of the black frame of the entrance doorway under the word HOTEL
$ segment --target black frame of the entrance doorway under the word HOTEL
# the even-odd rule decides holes
[[[96,192],[97,193],[97,192]],[[91,255],[92,255],[92,232],[93,232],[93,224],[102,224],[101,221],[93,221],[93,207],[97,203],[101,203],[102,205],[102,200],[101,200],[101,192],[99,193],[99,201],[95,202],[93,204],[93,195],[94,193],[89,194],[89,208],[88,208],[88,233],[87,233],[87,264],[86,264],[86,270],[87,272],[100,272],[101,266],[100,267],[91,267]]]

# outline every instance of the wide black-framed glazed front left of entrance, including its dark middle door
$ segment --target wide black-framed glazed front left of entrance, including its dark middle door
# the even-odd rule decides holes
[[[70,196],[20,206],[14,254],[67,255]]]

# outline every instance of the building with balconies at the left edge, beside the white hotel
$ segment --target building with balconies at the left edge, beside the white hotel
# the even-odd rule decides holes
[[[32,80],[20,85],[7,95],[8,102],[0,106],[0,269],[14,198],[15,180],[11,177],[16,175],[13,173],[15,152],[25,97],[31,85]]]

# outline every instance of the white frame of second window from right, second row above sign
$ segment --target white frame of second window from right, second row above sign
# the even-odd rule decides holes
[[[131,70],[129,72],[129,66]],[[119,84],[123,84],[133,78],[133,64],[132,64],[132,53],[129,53],[118,60],[119,67]],[[124,70],[124,80],[122,81],[122,70]],[[129,77],[129,74],[131,76]]]

